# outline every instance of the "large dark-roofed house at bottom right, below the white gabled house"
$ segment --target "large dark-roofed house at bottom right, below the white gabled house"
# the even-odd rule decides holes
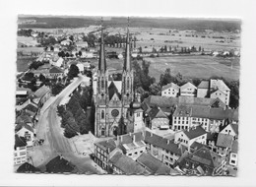
[[[224,172],[225,164],[224,157],[206,147],[202,147],[187,156],[182,156],[177,161],[177,167],[185,174],[190,175],[221,175]]]

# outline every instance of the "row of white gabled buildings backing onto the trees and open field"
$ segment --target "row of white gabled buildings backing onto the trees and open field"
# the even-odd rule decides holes
[[[193,97],[210,97],[220,98],[225,105],[229,104],[230,89],[226,87],[223,80],[211,79],[210,81],[202,81],[198,87],[188,82],[181,87],[174,83],[167,84],[161,89],[162,96],[177,97],[193,96]]]

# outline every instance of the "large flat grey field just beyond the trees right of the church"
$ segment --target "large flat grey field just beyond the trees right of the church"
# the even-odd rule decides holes
[[[160,80],[166,68],[172,75],[178,72],[187,78],[209,79],[212,76],[224,77],[226,80],[238,80],[240,72],[239,58],[220,58],[212,56],[171,56],[145,58],[151,62],[150,75]],[[232,64],[232,65],[231,65]]]

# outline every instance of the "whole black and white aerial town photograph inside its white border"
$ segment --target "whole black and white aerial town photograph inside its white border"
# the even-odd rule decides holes
[[[17,172],[235,176],[240,20],[18,18]]]

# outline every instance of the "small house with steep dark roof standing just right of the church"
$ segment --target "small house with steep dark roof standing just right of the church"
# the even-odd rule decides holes
[[[160,107],[154,107],[149,112],[150,118],[150,129],[168,129],[169,128],[169,119],[167,115],[160,109]]]

